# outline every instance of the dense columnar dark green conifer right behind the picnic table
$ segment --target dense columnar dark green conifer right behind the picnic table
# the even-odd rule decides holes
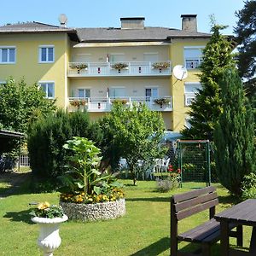
[[[253,112],[235,69],[227,70],[220,82],[223,113],[214,132],[215,159],[220,183],[241,195],[243,177],[253,172]]]

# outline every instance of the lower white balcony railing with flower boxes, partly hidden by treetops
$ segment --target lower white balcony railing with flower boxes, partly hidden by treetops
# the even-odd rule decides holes
[[[155,101],[156,99],[159,99],[159,101]],[[114,102],[122,102],[126,108],[132,108],[133,104],[145,103],[150,110],[172,111],[172,96],[161,96],[158,98],[148,96],[70,97],[68,110],[72,112],[79,108],[80,110],[86,109],[88,112],[109,112]]]

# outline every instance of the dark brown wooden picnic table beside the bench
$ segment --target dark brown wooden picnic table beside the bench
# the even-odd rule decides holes
[[[214,217],[220,222],[220,245],[222,256],[255,256],[256,255],[256,199],[248,199],[219,212]],[[249,252],[230,248],[229,224],[247,225],[253,227]]]

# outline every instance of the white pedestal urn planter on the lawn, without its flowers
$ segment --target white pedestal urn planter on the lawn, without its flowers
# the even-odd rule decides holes
[[[66,220],[67,215],[62,218],[32,218],[32,222],[39,224],[38,247],[43,249],[44,256],[53,256],[54,250],[61,245],[59,227]]]

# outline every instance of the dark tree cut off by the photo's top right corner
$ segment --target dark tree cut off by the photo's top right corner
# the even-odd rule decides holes
[[[238,46],[238,69],[242,78],[247,79],[247,96],[253,100],[256,108],[256,1],[247,0],[244,8],[236,12],[239,19],[235,33]]]

